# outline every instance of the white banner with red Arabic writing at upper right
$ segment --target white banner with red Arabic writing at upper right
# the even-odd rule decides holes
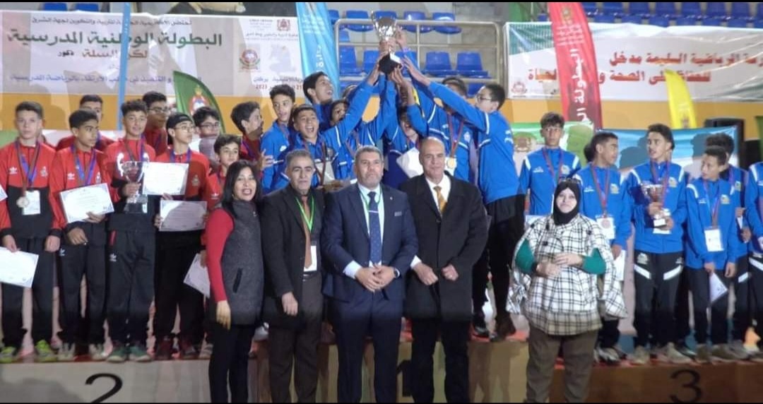
[[[665,101],[665,69],[694,100],[763,100],[763,30],[590,24],[603,100]],[[509,98],[559,96],[549,23],[509,23]]]

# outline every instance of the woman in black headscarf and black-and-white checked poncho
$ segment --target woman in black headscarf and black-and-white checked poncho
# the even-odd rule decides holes
[[[529,226],[514,255],[507,309],[530,322],[527,402],[548,400],[560,347],[565,399],[583,402],[600,316],[626,316],[610,243],[596,221],[579,213],[580,198],[578,181],[560,182],[552,214]]]

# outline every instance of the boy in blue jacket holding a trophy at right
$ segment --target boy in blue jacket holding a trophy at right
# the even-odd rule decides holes
[[[686,221],[686,179],[684,169],[672,163],[673,132],[662,123],[647,129],[649,161],[637,165],[625,182],[632,220],[636,283],[636,350],[632,364],[647,364],[646,345],[650,333],[658,348],[658,361],[673,364],[691,362],[674,345],[674,306],[678,280],[683,270]],[[652,322],[652,319],[655,322]]]

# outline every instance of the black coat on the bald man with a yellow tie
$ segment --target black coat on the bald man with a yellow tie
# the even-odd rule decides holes
[[[488,221],[479,190],[468,182],[449,178],[450,194],[442,216],[423,175],[401,186],[416,223],[418,257],[439,278],[436,284],[427,286],[415,271],[409,271],[405,313],[412,319],[472,318],[472,268],[488,242]],[[459,273],[456,281],[443,277],[442,270],[448,265]]]

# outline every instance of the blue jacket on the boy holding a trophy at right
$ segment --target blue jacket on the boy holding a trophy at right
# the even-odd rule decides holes
[[[654,168],[654,173],[652,173]],[[655,234],[652,216],[649,216],[649,200],[645,197],[641,184],[667,184],[664,190],[663,207],[670,210],[674,226],[669,234]],[[645,162],[630,172],[625,182],[626,192],[633,207],[632,220],[636,228],[634,248],[642,252],[666,254],[684,249],[683,224],[686,221],[686,179],[680,165],[663,162]],[[659,231],[659,230],[658,230]]]

